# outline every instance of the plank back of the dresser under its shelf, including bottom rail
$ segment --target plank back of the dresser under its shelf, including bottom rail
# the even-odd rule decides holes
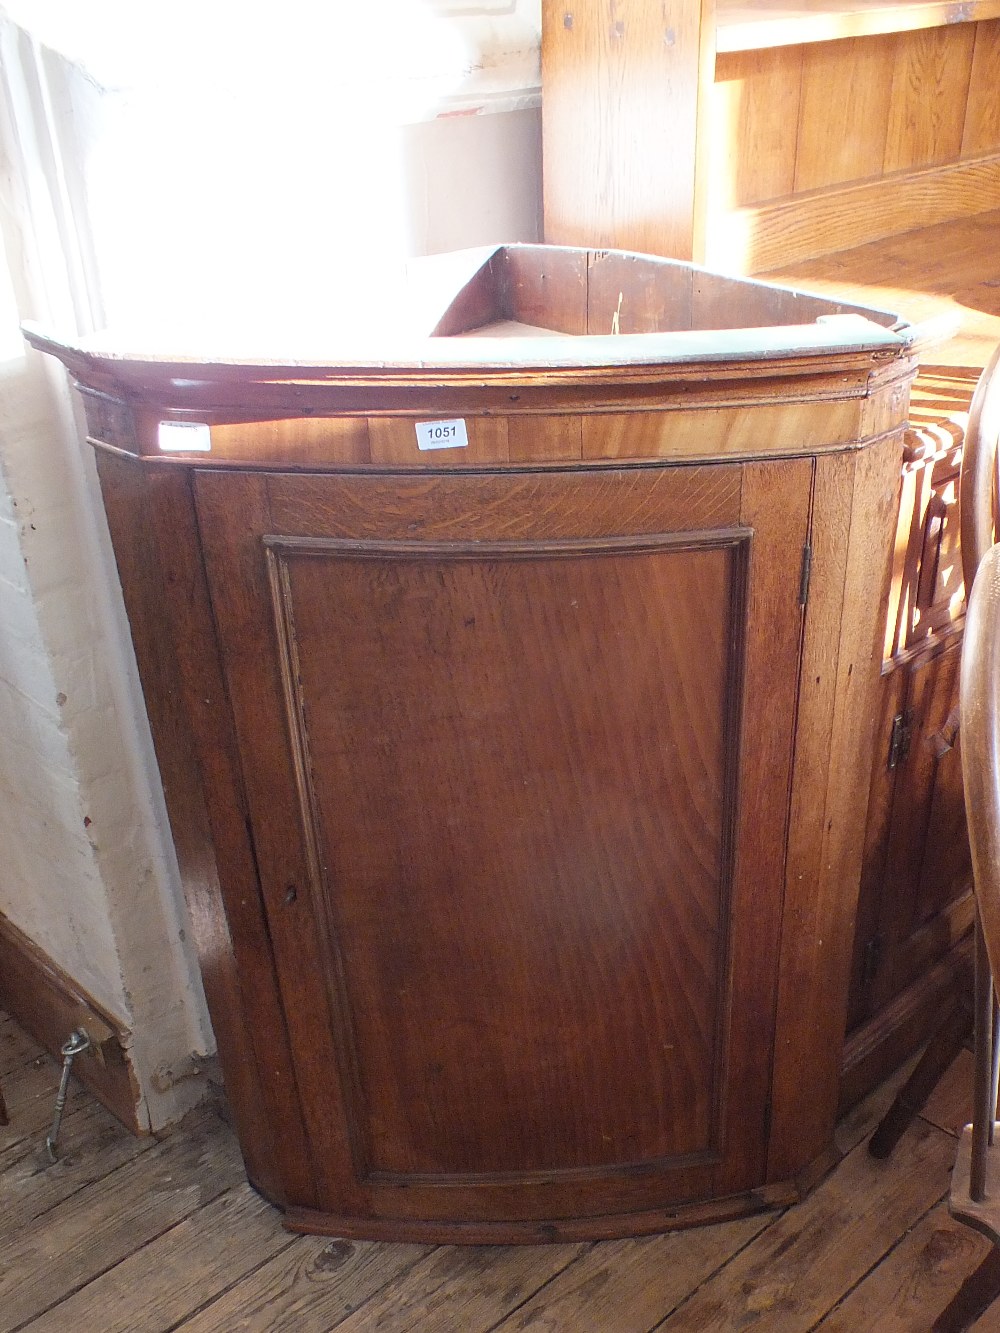
[[[1000,19],[720,53],[705,257],[761,272],[1000,207]]]

